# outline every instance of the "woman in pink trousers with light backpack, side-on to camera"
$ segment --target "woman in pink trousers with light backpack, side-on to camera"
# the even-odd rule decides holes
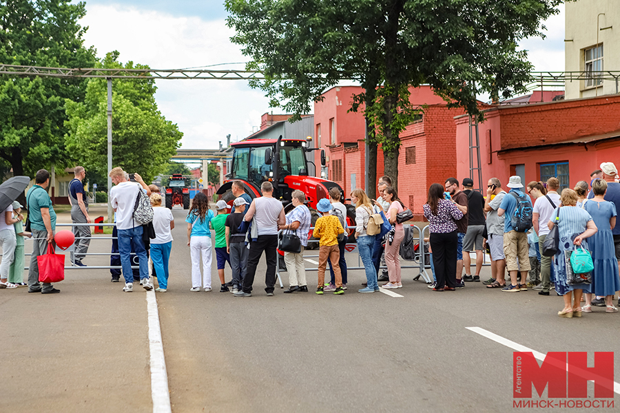
[[[404,239],[404,227],[396,222],[396,214],[404,211],[404,204],[392,187],[383,190],[383,200],[390,203],[387,219],[393,225],[394,231],[392,242],[385,243],[385,264],[388,267],[390,282],[385,284],[383,288],[402,288],[398,251],[400,251],[400,244]],[[378,202],[376,204],[379,205]]]

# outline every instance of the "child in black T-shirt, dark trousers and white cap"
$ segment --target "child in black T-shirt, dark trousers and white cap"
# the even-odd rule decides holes
[[[241,197],[234,201],[235,211],[226,217],[226,252],[229,255],[230,268],[233,276],[233,293],[241,290],[241,282],[245,277],[248,249],[245,247],[245,233],[238,231],[245,216],[247,201]]]

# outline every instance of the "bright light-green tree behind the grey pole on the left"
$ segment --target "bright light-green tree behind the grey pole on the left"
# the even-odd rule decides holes
[[[118,63],[118,52],[105,56],[100,67],[144,69]],[[183,136],[176,124],[157,109],[152,78],[112,81],[112,163],[151,182],[167,165]],[[66,145],[88,170],[107,173],[107,81],[92,78],[83,102],[66,100],[69,133]]]

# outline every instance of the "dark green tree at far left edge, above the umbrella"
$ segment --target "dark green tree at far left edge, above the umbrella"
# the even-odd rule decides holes
[[[0,62],[9,65],[92,67],[83,45],[84,3],[69,0],[0,1]],[[15,175],[70,166],[64,139],[65,98],[81,101],[83,79],[0,76],[0,158]]]

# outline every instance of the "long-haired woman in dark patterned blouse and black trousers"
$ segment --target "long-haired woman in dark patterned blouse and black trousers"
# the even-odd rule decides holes
[[[437,284],[433,291],[454,291],[456,287],[457,226],[463,213],[454,201],[444,199],[444,187],[432,184],[424,204],[424,218],[431,232],[431,249]]]

